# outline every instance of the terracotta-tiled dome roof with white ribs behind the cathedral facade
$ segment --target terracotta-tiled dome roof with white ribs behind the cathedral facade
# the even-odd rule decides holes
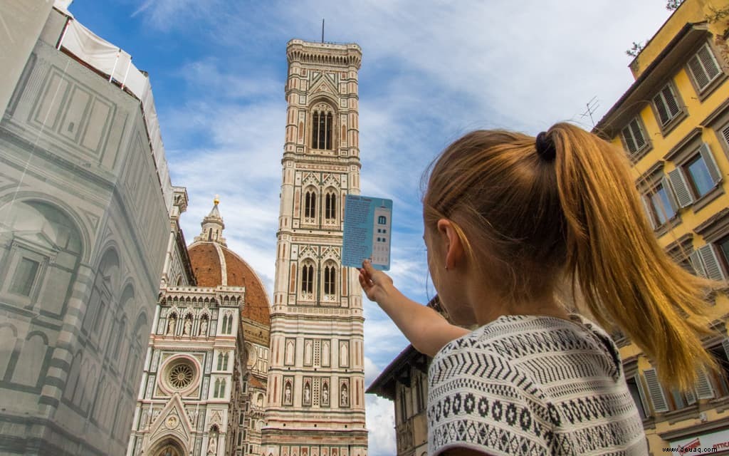
[[[187,251],[199,287],[246,287],[246,304],[241,316],[270,326],[270,306],[265,288],[241,257],[216,242],[195,242]],[[225,268],[225,280],[222,271]]]

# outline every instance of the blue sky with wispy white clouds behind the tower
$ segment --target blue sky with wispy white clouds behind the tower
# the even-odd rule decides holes
[[[149,72],[187,241],[216,194],[228,245],[273,290],[286,42],[356,42],[362,193],[394,200],[394,282],[426,302],[421,174],[475,128],[537,134],[599,120],[632,82],[625,50],[668,18],[665,0],[76,0],[69,10]],[[406,345],[365,300],[365,376]],[[392,406],[367,398],[370,455],[394,455]]]

